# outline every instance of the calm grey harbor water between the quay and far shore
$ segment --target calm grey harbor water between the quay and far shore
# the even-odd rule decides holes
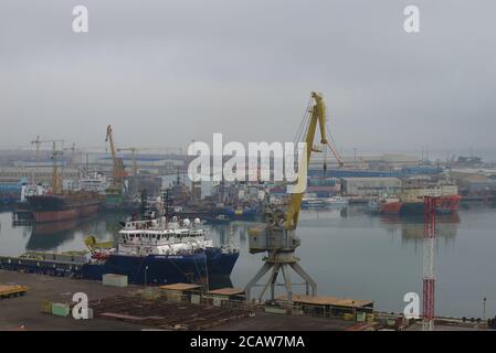
[[[0,255],[28,250],[83,250],[84,238],[106,240],[117,234],[125,214],[42,225],[13,225],[0,212]],[[240,246],[231,275],[243,288],[262,266],[263,254],[247,250],[247,229],[254,223],[211,226],[217,245]],[[437,216],[435,311],[437,315],[486,318],[496,314],[496,206],[462,204],[456,214]],[[422,298],[423,217],[380,216],[366,205],[302,211],[297,234],[300,265],[317,281],[318,295],[370,299],[377,310],[402,312],[403,297]],[[295,291],[302,282],[292,274]],[[282,288],[279,288],[279,293]]]

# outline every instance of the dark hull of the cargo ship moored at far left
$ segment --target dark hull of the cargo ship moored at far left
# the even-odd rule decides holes
[[[75,192],[27,197],[36,223],[67,221],[92,215],[102,203],[96,193]]]

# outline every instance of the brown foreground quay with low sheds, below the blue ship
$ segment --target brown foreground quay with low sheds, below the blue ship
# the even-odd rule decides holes
[[[0,284],[28,287],[22,297],[0,301],[0,330],[208,330],[208,331],[376,331],[420,330],[418,322],[399,314],[372,310],[368,300],[295,296],[275,303],[243,300],[241,289],[204,291],[201,286],[175,284],[161,287],[112,287],[99,281],[0,270]],[[46,314],[41,306],[51,301],[74,304],[72,296],[84,292],[93,319],[74,320]],[[439,328],[479,330],[484,323],[439,319]]]

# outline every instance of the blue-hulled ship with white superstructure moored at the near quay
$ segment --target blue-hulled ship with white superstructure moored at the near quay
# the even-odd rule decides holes
[[[86,253],[28,253],[0,256],[0,269],[102,280],[105,274],[125,275],[129,284],[207,284],[229,277],[239,257],[234,246],[217,247],[200,221],[127,221],[117,247],[88,237]]]

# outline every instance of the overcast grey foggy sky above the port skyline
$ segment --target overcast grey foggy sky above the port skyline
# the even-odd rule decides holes
[[[2,0],[0,147],[104,146],[107,124],[120,147],[292,141],[317,90],[339,149],[496,149],[495,17],[492,0]]]

